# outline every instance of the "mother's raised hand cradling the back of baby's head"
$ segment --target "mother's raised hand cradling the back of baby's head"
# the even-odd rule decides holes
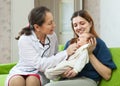
[[[97,44],[96,38],[95,37],[90,38],[89,44],[90,44],[90,46],[88,47],[88,52],[89,52],[89,54],[92,54],[92,52],[95,49],[96,44]]]

